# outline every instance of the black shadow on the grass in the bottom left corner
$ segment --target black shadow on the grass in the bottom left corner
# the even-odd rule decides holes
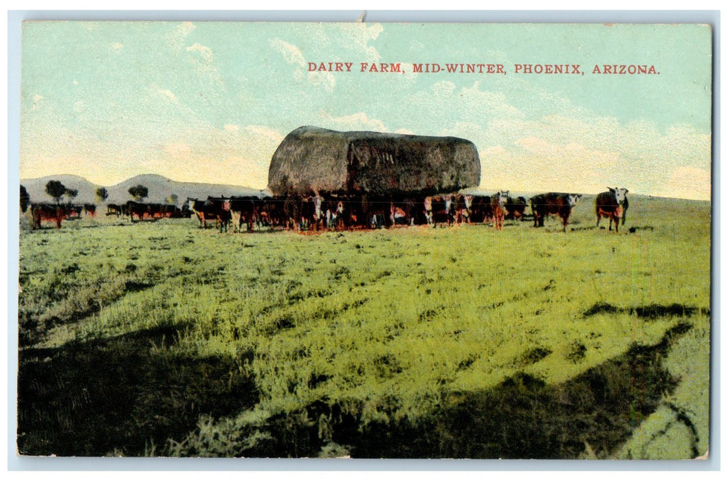
[[[21,454],[144,456],[183,437],[200,414],[229,416],[258,401],[229,357],[172,355],[178,326],[19,353]]]

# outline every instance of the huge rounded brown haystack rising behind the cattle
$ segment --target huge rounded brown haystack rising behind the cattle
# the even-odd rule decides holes
[[[268,171],[274,195],[438,194],[479,183],[470,140],[310,126],[283,139]]]

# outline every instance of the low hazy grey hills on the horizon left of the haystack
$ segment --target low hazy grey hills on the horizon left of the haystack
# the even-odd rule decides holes
[[[20,179],[20,184],[25,186],[28,194],[30,194],[31,202],[52,202],[52,199],[45,192],[45,186],[49,180],[59,180],[67,188],[75,188],[78,190],[79,194],[74,199],[74,203],[76,204],[98,204],[96,201],[96,189],[102,186],[91,183],[78,175],[49,175],[34,179]],[[206,199],[207,196],[269,195],[269,192],[259,191],[256,188],[224,184],[178,182],[162,175],[144,174],[136,175],[114,186],[103,186],[108,191],[106,203],[123,204],[128,200],[132,200],[132,196],[129,195],[129,188],[138,184],[149,188],[149,196],[144,199],[144,202],[162,203],[172,194],[177,195],[180,205],[187,197]]]

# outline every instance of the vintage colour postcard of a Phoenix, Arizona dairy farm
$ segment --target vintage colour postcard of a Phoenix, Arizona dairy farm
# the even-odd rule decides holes
[[[24,23],[18,453],[704,456],[712,55]]]

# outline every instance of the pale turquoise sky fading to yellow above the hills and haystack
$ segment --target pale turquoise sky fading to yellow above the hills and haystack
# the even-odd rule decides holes
[[[265,188],[285,135],[315,125],[466,138],[480,187],[494,191],[710,199],[711,35],[687,24],[25,22],[20,178]]]

